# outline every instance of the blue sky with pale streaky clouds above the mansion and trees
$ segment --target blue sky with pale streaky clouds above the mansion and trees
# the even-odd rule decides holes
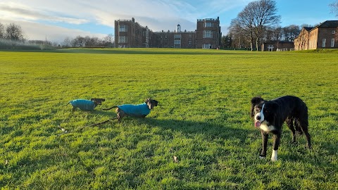
[[[196,30],[196,20],[220,18],[226,35],[231,20],[252,0],[0,0],[0,23],[20,25],[25,38],[61,44],[66,37],[104,38],[114,21],[131,20],[150,30]],[[318,25],[338,20],[329,4],[337,0],[275,0],[280,26]]]

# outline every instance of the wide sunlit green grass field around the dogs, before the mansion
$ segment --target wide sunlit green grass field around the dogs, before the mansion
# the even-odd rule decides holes
[[[0,51],[0,88],[1,189],[338,189],[338,51]],[[279,160],[272,138],[261,160],[250,100],[287,94],[313,148],[284,126]],[[84,127],[149,97],[144,119]],[[90,98],[106,101],[64,106]]]

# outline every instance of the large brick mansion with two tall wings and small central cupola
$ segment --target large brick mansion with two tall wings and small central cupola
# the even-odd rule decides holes
[[[222,33],[219,18],[197,20],[195,31],[182,31],[177,25],[175,31],[153,32],[132,20],[115,20],[115,47],[163,47],[163,48],[205,48],[220,46]]]

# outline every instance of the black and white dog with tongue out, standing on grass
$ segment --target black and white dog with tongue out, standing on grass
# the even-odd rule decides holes
[[[266,156],[266,146],[268,144],[268,134],[274,134],[272,161],[277,160],[277,150],[280,145],[282,125],[287,122],[287,126],[292,131],[292,142],[296,141],[295,132],[304,133],[308,141],[308,148],[311,148],[311,137],[308,134],[308,107],[296,96],[282,96],[271,101],[266,101],[261,97],[251,99],[251,118],[255,121],[255,127],[261,129],[262,151],[260,158]]]

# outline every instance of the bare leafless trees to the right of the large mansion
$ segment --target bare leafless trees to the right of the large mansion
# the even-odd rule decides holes
[[[330,4],[330,7],[332,13],[338,16],[338,0]],[[276,1],[251,1],[232,19],[229,32],[222,38],[223,47],[258,51],[263,42],[294,42],[303,27],[313,27],[306,24],[281,27],[280,18],[277,15]]]

